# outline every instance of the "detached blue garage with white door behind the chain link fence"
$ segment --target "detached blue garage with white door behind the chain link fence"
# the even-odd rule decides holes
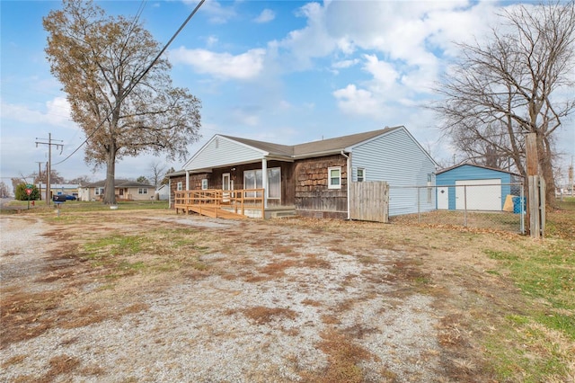
[[[437,208],[500,211],[509,194],[518,195],[521,175],[473,164],[460,164],[436,174]]]

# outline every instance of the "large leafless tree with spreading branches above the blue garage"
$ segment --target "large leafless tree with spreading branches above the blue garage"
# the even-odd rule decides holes
[[[553,134],[575,110],[575,2],[517,4],[500,16],[488,42],[458,44],[461,58],[433,109],[464,153],[494,165],[507,157],[524,176],[525,134],[535,133],[553,203]]]

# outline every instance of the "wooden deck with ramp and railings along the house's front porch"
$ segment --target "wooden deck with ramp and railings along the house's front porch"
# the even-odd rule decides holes
[[[176,213],[190,211],[211,218],[265,218],[263,189],[176,191]]]

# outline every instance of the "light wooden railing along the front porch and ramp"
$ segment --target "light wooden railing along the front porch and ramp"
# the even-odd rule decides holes
[[[223,209],[242,216],[248,209],[259,210],[260,217],[263,218],[263,193],[263,189],[175,191],[174,208],[176,211],[190,211],[194,208]]]

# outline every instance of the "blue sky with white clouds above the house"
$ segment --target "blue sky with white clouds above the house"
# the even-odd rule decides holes
[[[101,1],[107,13],[140,20],[166,43],[197,1]],[[173,84],[202,102],[202,138],[214,134],[297,144],[403,125],[439,162],[454,151],[437,117],[421,107],[456,55],[453,41],[482,40],[501,6],[495,1],[207,1],[167,55]],[[63,141],[61,162],[84,140],[69,120],[66,95],[49,73],[42,17],[55,1],[0,1],[0,129],[2,181],[38,171],[48,159],[36,138]],[[575,155],[573,120],[564,123],[562,163]],[[116,166],[117,178],[151,174],[153,162],[181,168],[184,160],[139,156]],[[54,165],[66,179],[93,173],[79,150]]]

